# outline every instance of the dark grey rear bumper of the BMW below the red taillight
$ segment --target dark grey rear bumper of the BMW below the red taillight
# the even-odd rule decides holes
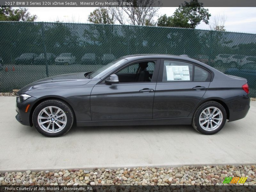
[[[236,121],[244,118],[250,109],[250,97],[244,96],[226,103],[229,109],[229,121]]]

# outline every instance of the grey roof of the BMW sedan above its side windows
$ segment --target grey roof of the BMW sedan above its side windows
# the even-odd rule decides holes
[[[126,60],[134,59],[147,59],[147,58],[170,58],[170,59],[189,59],[188,55],[168,55],[168,54],[135,54],[135,55],[126,55],[122,58]]]

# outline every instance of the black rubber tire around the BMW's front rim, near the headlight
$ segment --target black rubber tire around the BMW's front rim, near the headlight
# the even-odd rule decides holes
[[[65,112],[65,115],[67,117],[67,120],[66,120],[67,123],[66,123],[65,127],[60,132],[56,132],[56,133],[46,132],[38,124],[37,117],[38,117],[39,113],[41,112],[42,109],[49,107],[49,106],[54,106],[54,107],[60,108],[63,112]],[[32,122],[33,122],[36,130],[39,133],[41,133],[42,135],[47,136],[47,137],[59,137],[59,136],[66,134],[71,129],[73,122],[74,122],[74,114],[73,114],[72,109],[66,102],[63,102],[63,101],[57,100],[57,99],[45,100],[35,108],[35,110],[33,112],[33,116],[32,116]],[[54,122],[53,122],[53,124],[54,124]]]

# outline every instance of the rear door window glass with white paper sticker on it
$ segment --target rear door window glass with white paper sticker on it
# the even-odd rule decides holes
[[[192,81],[193,64],[182,61],[164,61],[163,82]]]

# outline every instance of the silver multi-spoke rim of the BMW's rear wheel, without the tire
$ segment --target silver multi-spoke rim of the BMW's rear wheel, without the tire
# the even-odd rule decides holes
[[[219,108],[208,107],[199,116],[199,124],[205,131],[218,129],[223,121],[223,115]]]

